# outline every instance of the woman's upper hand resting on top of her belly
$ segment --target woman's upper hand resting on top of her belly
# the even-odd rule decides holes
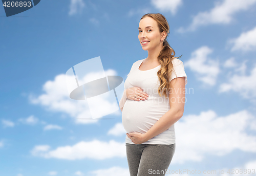
[[[145,92],[143,92],[143,90],[140,87],[132,87],[130,89],[126,89],[125,92],[126,97],[129,100],[140,101],[146,100],[148,97],[148,95]]]

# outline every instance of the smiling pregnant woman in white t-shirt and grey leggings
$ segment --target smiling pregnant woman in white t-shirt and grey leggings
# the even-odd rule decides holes
[[[187,76],[168,33],[162,14],[141,17],[139,41],[148,56],[133,63],[119,102],[131,176],[165,175],[174,156],[174,124],[183,116]]]

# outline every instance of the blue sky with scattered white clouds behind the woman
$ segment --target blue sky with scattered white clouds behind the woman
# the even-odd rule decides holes
[[[256,169],[255,7],[256,0],[45,0],[10,17],[0,8],[0,175],[129,175],[121,111],[78,120],[87,112],[69,98],[65,73],[100,56],[106,75],[125,80],[147,57],[138,40],[145,13],[167,18],[188,80],[169,169]]]

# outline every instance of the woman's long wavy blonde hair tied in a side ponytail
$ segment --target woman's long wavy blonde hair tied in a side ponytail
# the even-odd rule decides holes
[[[160,13],[147,13],[141,17],[152,17],[157,21],[159,32],[162,33],[165,31],[169,33],[169,24],[166,18],[160,14]],[[141,20],[140,19],[140,20]],[[165,37],[163,41],[163,47],[162,50],[160,51],[157,59],[161,63],[161,68],[157,72],[158,79],[160,81],[160,85],[158,87],[158,94],[161,96],[161,92],[163,92],[164,96],[167,97],[167,93],[169,92],[170,88],[173,88],[173,85],[170,85],[170,80],[172,78],[172,70],[173,70],[173,63],[172,60],[175,58],[180,58],[180,57],[174,57],[175,56],[175,51],[172,49],[172,47],[169,46],[169,43],[167,41],[167,36]],[[174,53],[174,54],[172,54]],[[175,71],[174,71],[175,72]],[[175,73],[176,77],[177,74]],[[168,91],[168,92],[167,92]],[[162,96],[161,96],[162,97]]]

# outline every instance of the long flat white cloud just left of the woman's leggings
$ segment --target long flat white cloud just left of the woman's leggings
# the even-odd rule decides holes
[[[93,140],[91,142],[81,141],[73,146],[57,147],[50,150],[49,145],[35,146],[31,154],[36,157],[57,158],[63,160],[95,159],[104,160],[114,157],[124,158],[126,156],[125,143],[114,140],[103,142]]]

